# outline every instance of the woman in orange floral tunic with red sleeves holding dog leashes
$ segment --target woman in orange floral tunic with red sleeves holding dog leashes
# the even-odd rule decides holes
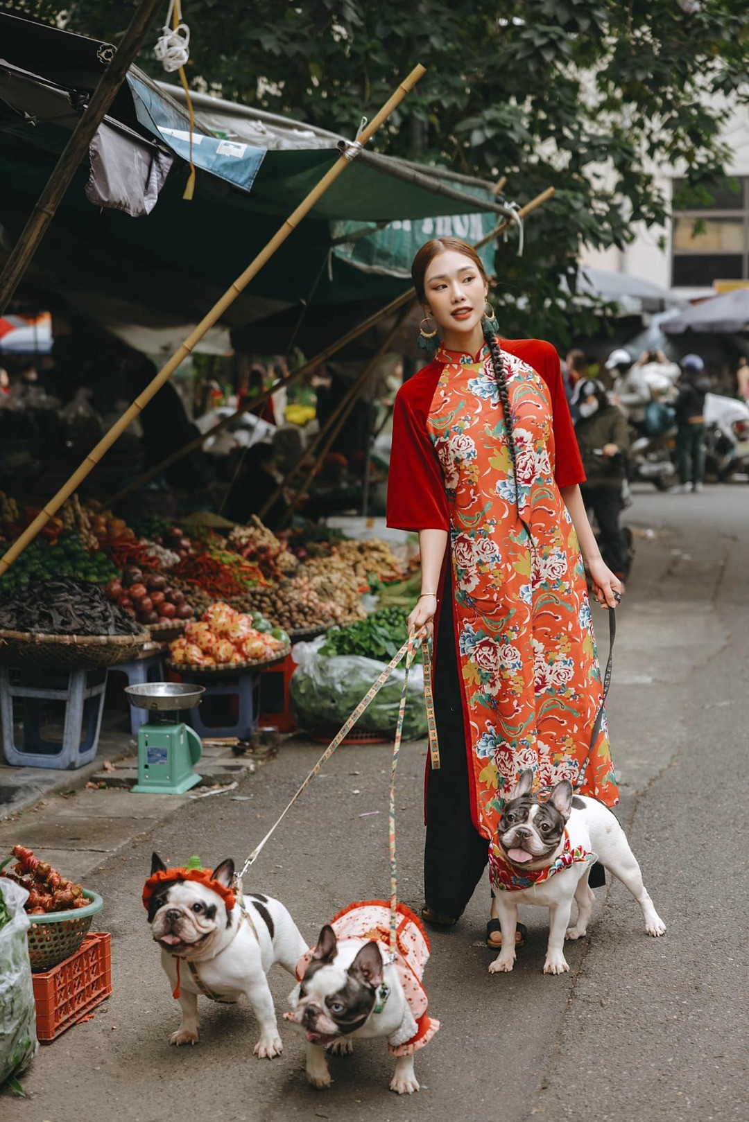
[[[613,607],[622,586],[585,515],[554,348],[496,338],[483,265],[457,238],[422,246],[412,277],[422,339],[441,329],[442,342],[395,401],[387,521],[419,532],[409,625],[437,631],[423,916],[451,925],[519,771],[541,787],[574,781],[588,751],[602,686],[578,541],[599,601]],[[618,801],[605,720],[582,790]],[[494,904],[492,916],[499,946]]]

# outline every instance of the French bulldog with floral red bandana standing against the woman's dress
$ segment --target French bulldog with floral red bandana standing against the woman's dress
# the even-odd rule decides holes
[[[497,902],[502,928],[502,949],[488,967],[490,973],[510,972],[515,959],[515,925],[518,904],[539,904],[549,909],[549,942],[544,963],[545,974],[563,974],[569,969],[564,956],[565,939],[579,939],[587,930],[587,922],[595,901],[587,883],[590,861],[574,859],[566,864],[561,858],[578,850],[597,857],[625,889],[634,896],[645,918],[648,935],[664,935],[666,925],[658,916],[643,883],[623,829],[614,815],[597,799],[577,795],[572,783],[563,780],[551,791],[548,801],[539,802],[531,794],[533,773],[523,771],[510,792],[499,824],[496,846],[499,856],[518,875],[549,868],[557,862],[560,867],[548,880],[530,888],[497,889],[490,857],[492,893]],[[569,844],[565,845],[565,831]],[[573,899],[577,903],[577,919],[569,925]]]

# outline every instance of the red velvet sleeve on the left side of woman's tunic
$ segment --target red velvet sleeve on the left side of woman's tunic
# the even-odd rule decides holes
[[[427,432],[440,367],[426,367],[399,389],[387,475],[387,525],[394,530],[449,530],[442,469]]]

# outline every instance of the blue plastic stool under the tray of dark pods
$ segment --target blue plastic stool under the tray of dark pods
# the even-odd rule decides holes
[[[0,666],[2,749],[9,764],[19,767],[83,767],[99,746],[107,689],[106,670],[35,671]],[[24,744],[13,735],[13,701],[24,699]],[[42,736],[47,701],[65,706],[62,741]]]

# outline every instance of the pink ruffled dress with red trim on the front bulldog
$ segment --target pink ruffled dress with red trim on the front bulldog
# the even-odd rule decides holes
[[[338,912],[330,926],[339,941],[365,939],[378,944],[383,963],[393,963],[398,971],[407,1008],[400,1027],[387,1038],[389,1051],[393,1056],[411,1056],[423,1048],[439,1029],[439,1021],[427,1013],[427,993],[421,978],[429,960],[429,939],[419,919],[405,904],[398,905],[398,949],[394,958],[390,950],[390,903],[384,900],[349,904]],[[296,977],[300,982],[312,962],[313,950],[313,947],[310,948],[296,963]],[[387,986],[380,986],[375,1015],[382,1013],[389,995]]]

